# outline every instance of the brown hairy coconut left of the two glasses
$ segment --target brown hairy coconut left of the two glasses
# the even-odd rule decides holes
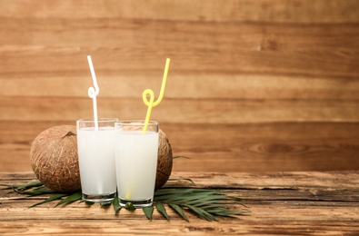
[[[81,189],[75,125],[55,126],[31,145],[30,162],[37,179],[55,192]]]

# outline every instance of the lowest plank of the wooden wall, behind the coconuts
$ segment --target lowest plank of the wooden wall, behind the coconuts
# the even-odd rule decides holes
[[[65,121],[0,122],[0,171],[31,171],[30,145]],[[358,170],[359,123],[162,123],[174,171],[273,172]]]

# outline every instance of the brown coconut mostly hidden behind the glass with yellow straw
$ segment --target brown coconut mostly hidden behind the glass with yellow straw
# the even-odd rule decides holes
[[[168,181],[173,166],[173,153],[171,143],[162,130],[158,132],[158,160],[155,177],[155,189],[159,189]]]

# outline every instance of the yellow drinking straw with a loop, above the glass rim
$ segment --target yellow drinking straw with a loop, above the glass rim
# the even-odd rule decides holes
[[[147,126],[150,121],[150,116],[152,112],[152,108],[157,106],[159,103],[161,103],[162,99],[164,98],[165,94],[165,83],[167,82],[167,74],[168,74],[168,68],[170,66],[170,59],[167,58],[165,61],[165,72],[164,72],[164,78],[162,79],[162,85],[161,85],[161,91],[160,95],[158,96],[157,100],[155,100],[155,93],[151,89],[146,89],[144,93],[142,93],[142,100],[144,101],[145,105],[148,106],[147,113],[145,115],[145,126],[142,131],[142,133],[145,133],[147,131]],[[147,101],[147,95],[150,95],[150,101]]]

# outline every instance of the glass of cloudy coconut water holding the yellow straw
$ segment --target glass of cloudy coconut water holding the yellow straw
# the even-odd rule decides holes
[[[145,129],[144,129],[145,127]],[[151,206],[154,200],[158,156],[158,123],[120,121],[115,123],[115,167],[121,206]]]

